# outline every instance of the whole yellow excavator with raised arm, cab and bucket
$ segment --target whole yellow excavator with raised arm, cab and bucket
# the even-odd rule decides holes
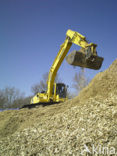
[[[81,49],[79,51],[74,50],[66,56],[72,44],[80,46]],[[68,30],[66,33],[66,39],[61,45],[60,50],[50,68],[47,81],[47,91],[37,93],[31,99],[30,106],[36,104],[47,105],[49,103],[59,103],[67,100],[66,85],[64,83],[54,83],[61,63],[66,57],[66,60],[70,65],[98,70],[102,65],[103,58],[97,55],[96,46],[97,45],[94,43],[88,43],[86,38],[80,33]]]

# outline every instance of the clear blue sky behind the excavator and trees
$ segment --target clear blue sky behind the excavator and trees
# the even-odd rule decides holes
[[[86,69],[92,79],[117,58],[116,0],[0,0],[0,89],[18,88],[31,95],[64,42],[68,29],[98,45],[104,57],[98,71]],[[80,47],[73,45],[69,52]],[[58,73],[72,90],[79,71],[65,60]]]

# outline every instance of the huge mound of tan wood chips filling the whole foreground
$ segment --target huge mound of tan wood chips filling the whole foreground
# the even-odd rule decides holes
[[[115,155],[117,60],[73,100],[0,119],[0,155]]]

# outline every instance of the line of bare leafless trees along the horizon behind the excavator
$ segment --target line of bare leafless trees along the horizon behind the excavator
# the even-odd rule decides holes
[[[31,87],[32,93],[35,95],[38,92],[47,90],[48,73],[43,74],[42,80],[34,84]],[[62,82],[61,78],[57,74],[56,83]],[[76,93],[82,90],[88,84],[88,80],[85,76],[84,69],[81,68],[80,72],[75,74],[73,79],[73,88],[76,89]],[[6,87],[0,89],[0,109],[6,108],[20,108],[25,104],[30,103],[31,96],[25,97],[25,94],[20,92],[15,87]],[[72,98],[73,94],[68,90],[68,98]]]

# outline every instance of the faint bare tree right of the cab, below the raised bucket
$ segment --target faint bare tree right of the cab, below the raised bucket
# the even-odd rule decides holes
[[[80,92],[84,87],[86,87],[89,83],[88,78],[85,76],[84,68],[80,68],[79,73],[75,73],[73,78],[72,87],[76,90],[76,92]]]

